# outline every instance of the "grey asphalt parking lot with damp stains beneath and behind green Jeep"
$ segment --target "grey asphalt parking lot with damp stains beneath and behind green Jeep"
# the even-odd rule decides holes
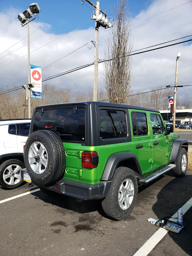
[[[0,189],[0,255],[192,255],[191,183],[192,172],[175,178],[169,171],[139,186],[136,205],[122,221],[107,218],[99,200],[80,203],[61,195],[47,197],[39,190],[23,194],[38,188],[27,183]],[[159,239],[162,228],[147,219],[172,216],[186,202],[186,226]],[[149,253],[143,244],[151,246]]]

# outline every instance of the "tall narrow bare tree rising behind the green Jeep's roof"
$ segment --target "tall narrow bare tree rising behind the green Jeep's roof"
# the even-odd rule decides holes
[[[131,77],[132,49],[127,0],[118,0],[104,62],[105,88],[109,102],[125,103]]]

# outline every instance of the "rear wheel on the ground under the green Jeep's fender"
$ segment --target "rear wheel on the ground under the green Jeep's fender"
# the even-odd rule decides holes
[[[118,167],[108,193],[101,202],[102,209],[107,216],[122,220],[131,213],[137,194],[138,183],[134,171],[127,167]]]

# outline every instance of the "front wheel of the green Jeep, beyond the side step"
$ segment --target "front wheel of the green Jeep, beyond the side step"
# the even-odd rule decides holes
[[[178,153],[178,158],[174,162],[176,167],[172,169],[174,176],[183,177],[187,171],[188,157],[186,149],[181,147]]]

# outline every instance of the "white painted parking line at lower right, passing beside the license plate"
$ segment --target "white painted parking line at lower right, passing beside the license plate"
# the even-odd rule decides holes
[[[183,214],[192,206],[192,197],[181,207]],[[172,218],[177,217],[177,212],[172,215]],[[133,256],[147,256],[148,253],[156,246],[156,244],[168,233],[168,230],[159,228]]]

